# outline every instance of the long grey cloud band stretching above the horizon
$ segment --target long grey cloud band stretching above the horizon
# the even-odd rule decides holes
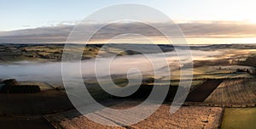
[[[161,29],[167,29],[168,23],[154,23]],[[227,21],[193,21],[177,24],[186,37],[191,38],[228,38],[228,37],[255,37],[256,25],[227,22]],[[83,36],[102,24],[81,25],[77,30],[77,40],[80,42]],[[66,42],[67,36],[73,31],[74,25],[57,25],[51,27],[40,27],[19,31],[2,31],[0,32],[0,42],[9,43],[34,43],[34,42]],[[177,33],[171,31],[172,34]],[[149,25],[142,23],[115,23],[104,26],[101,31],[96,32],[93,40],[101,41],[109,37],[125,33],[139,33],[144,36],[161,37],[160,31],[156,31]],[[174,35],[173,35],[174,36]]]

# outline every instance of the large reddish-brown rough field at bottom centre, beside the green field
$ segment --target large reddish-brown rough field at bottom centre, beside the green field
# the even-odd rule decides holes
[[[113,109],[127,109],[133,104],[132,101],[123,104],[114,105]],[[147,106],[143,109],[147,110]],[[218,128],[219,119],[221,117],[222,108],[218,107],[182,107],[176,113],[170,115],[170,105],[162,104],[153,115],[131,126],[122,126],[123,119],[116,119],[115,115],[110,115],[102,111],[101,115],[97,115],[97,119],[108,118],[109,122],[119,126],[115,128]],[[98,113],[97,113],[98,114]],[[139,115],[134,114],[139,117]],[[124,116],[126,117],[126,115]],[[79,115],[76,111],[68,111],[58,115],[47,116],[49,121],[53,121],[55,125],[62,128],[113,128],[111,126],[102,126],[90,121],[83,115]],[[124,118],[125,120],[129,120]],[[83,124],[82,124],[83,123]]]

